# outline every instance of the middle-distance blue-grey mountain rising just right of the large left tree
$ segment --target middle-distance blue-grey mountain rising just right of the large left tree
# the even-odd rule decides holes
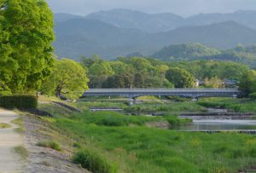
[[[55,54],[79,60],[81,55],[114,58],[136,52],[137,40],[148,34],[83,18],[55,23],[55,35]]]

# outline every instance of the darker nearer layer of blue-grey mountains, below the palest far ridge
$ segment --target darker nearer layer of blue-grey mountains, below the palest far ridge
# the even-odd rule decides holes
[[[218,49],[256,43],[256,31],[234,21],[147,33],[81,18],[56,22],[55,33],[55,54],[76,60],[81,55],[94,54],[108,59],[134,52],[152,55],[165,46],[180,43],[202,43]]]

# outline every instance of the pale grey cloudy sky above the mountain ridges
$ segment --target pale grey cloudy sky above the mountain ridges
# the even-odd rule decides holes
[[[149,14],[229,13],[256,10],[256,0],[46,0],[54,13],[86,15],[99,10],[134,9]]]

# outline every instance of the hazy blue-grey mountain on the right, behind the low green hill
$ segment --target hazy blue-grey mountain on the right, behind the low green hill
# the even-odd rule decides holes
[[[256,43],[256,30],[234,21],[225,21],[208,26],[184,26],[170,32],[154,33],[143,40],[150,49],[161,49],[166,45],[202,43],[218,49],[229,49],[238,43]]]

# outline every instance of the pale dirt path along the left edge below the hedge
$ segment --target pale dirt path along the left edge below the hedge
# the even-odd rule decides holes
[[[19,116],[12,111],[0,109],[0,123],[10,124],[11,128],[0,129],[0,173],[21,172],[22,162],[14,148],[22,145],[22,136],[15,132],[19,126],[11,123]]]

